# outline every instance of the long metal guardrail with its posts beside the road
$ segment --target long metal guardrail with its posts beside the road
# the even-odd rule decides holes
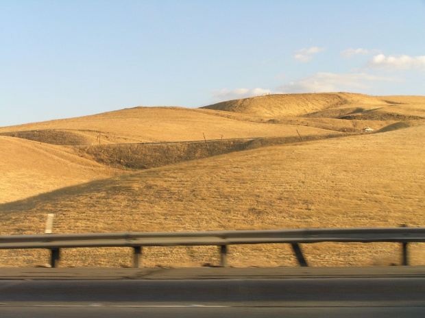
[[[134,267],[141,267],[143,246],[217,245],[221,266],[227,266],[228,245],[289,243],[300,265],[307,266],[299,244],[320,242],[402,243],[403,265],[408,265],[407,244],[425,242],[425,228],[5,235],[0,236],[0,249],[50,249],[51,267],[58,267],[62,248],[133,247]]]

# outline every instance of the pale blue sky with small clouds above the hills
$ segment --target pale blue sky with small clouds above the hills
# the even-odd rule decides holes
[[[0,127],[277,93],[425,95],[425,0],[0,0]]]

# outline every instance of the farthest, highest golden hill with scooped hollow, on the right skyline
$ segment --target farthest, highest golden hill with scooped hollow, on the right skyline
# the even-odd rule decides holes
[[[324,117],[361,120],[425,119],[425,97],[372,97],[353,93],[265,95],[223,101],[205,109],[256,117]],[[351,117],[348,118],[347,116]]]

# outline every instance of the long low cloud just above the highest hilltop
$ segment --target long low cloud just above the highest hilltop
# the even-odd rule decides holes
[[[372,87],[373,82],[401,82],[398,77],[383,77],[367,73],[317,73],[278,87],[278,93],[352,92]]]

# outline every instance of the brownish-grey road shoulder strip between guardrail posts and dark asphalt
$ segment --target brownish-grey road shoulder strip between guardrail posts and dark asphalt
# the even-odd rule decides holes
[[[291,278],[425,277],[425,266],[391,267],[7,267],[0,280],[214,280]]]

